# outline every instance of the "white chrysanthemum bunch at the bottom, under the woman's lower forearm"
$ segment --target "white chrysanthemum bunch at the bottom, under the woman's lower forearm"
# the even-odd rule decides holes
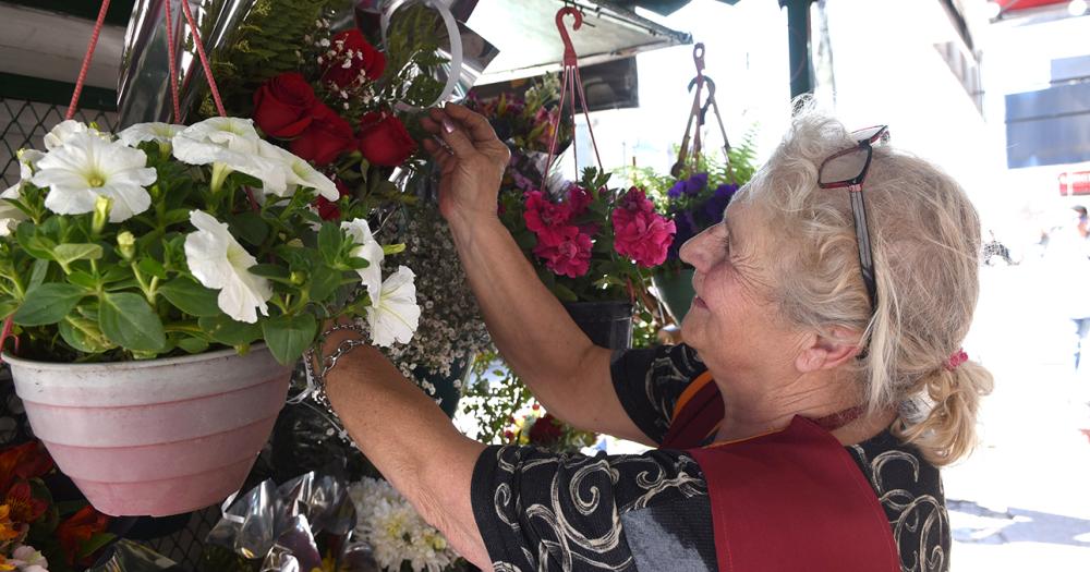
[[[408,562],[415,572],[440,572],[458,559],[437,528],[386,480],[367,478],[349,489],[355,504],[358,537],[374,550],[384,570],[397,572]]]

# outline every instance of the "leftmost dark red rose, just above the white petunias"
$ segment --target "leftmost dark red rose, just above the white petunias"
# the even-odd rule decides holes
[[[266,135],[294,137],[310,126],[317,105],[302,74],[282,73],[254,92],[254,121]]]

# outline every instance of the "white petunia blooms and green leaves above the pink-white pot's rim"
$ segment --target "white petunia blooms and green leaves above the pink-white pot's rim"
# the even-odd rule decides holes
[[[51,360],[244,351],[264,340],[299,358],[322,320],[366,316],[373,342],[408,342],[414,275],[382,263],[400,245],[372,235],[336,185],[262,139],[253,122],[133,125],[117,136],[76,121],[20,153],[0,193],[0,317]],[[366,296],[355,295],[363,287]]]

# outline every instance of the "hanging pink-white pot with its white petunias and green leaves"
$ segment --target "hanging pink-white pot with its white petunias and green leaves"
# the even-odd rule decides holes
[[[108,514],[167,515],[242,484],[324,320],[408,341],[413,273],[367,210],[252,122],[64,121],[20,154],[0,212],[4,360],[58,466]],[[362,287],[362,290],[361,290]]]

